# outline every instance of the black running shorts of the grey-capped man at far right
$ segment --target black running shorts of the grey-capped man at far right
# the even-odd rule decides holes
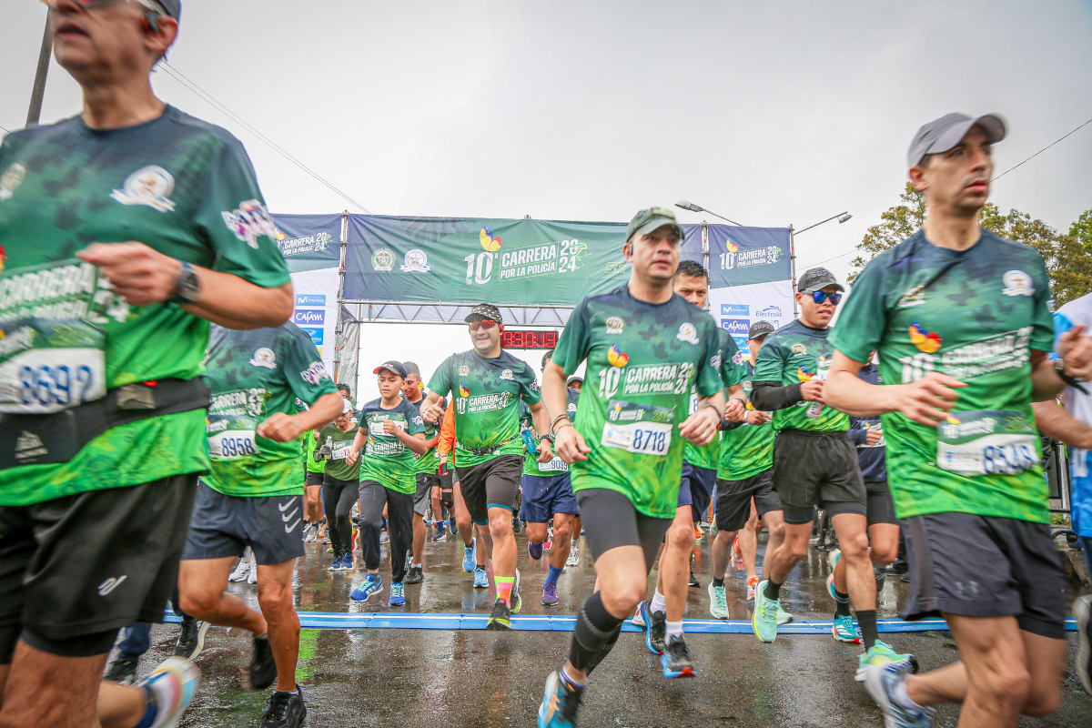
[[[1020,629],[1066,636],[1066,575],[1045,523],[970,513],[903,520],[910,561],[909,620],[1016,617]]]

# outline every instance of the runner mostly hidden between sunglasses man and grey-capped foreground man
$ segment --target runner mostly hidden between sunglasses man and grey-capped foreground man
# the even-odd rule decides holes
[[[873,355],[869,355],[857,377],[869,384],[879,384],[880,373]],[[894,517],[894,501],[887,484],[887,443],[880,416],[874,413],[867,417],[850,417],[850,439],[857,449],[857,464],[868,494],[868,554],[876,575],[876,592],[879,593],[883,588],[888,564],[899,556],[899,520]],[[832,569],[827,577],[827,590],[835,605],[831,632],[839,642],[860,644],[850,613],[845,562],[841,560],[841,550],[832,550],[827,559]]]

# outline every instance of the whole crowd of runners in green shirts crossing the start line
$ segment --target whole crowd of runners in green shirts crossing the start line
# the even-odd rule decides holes
[[[626,232],[629,282],[577,305],[537,374],[480,303],[468,350],[427,380],[383,360],[380,396],[354,408],[287,322],[241,144],[152,93],[180,2],[47,4],[84,109],[0,146],[0,727],[175,726],[210,625],[252,635],[250,687],[272,688],[261,725],[299,726],[296,560],[314,544],[331,571],[364,573],[351,599],[402,606],[431,528],[461,539],[500,631],[531,598],[521,559],[548,551],[541,604],[558,606],[584,535],[595,588],[565,605],[575,628],[537,716],[570,728],[627,620],[664,678],[698,675],[684,616],[711,505],[709,612],[763,643],[793,620],[782,589],[823,514],[832,636],[860,645],[850,669],[889,728],[929,726],[942,703],[962,704],[961,726],[1056,708],[1065,577],[1038,431],[1075,449],[1092,558],[1092,298],[1053,314],[1038,254],[978,227],[1000,118],[921,128],[907,163],[925,225],[867,265],[836,325],[844,288],[811,268],[799,318],[755,322],[739,350],[703,310],[709,274],[680,260],[674,214],[652,207]],[[904,616],[943,616],[959,661],[921,672],[879,639],[900,552]],[[733,563],[749,614],[728,612]],[[230,581],[257,584],[260,611]],[[168,604],[176,654],[139,679]],[[1089,608],[1073,607],[1075,668],[1092,692]]]

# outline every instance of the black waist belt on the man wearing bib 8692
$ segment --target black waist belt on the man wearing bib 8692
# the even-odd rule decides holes
[[[0,469],[67,463],[103,432],[150,417],[206,409],[210,390],[195,379],[126,384],[100,399],[48,415],[0,414]]]

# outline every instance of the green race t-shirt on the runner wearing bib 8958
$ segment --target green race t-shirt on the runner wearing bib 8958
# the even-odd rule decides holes
[[[225,496],[292,496],[299,441],[274,442],[254,430],[273,413],[295,415],[336,394],[311,337],[294,323],[232,331],[214,325],[205,357],[212,404],[205,432],[212,470],[202,480]]]

